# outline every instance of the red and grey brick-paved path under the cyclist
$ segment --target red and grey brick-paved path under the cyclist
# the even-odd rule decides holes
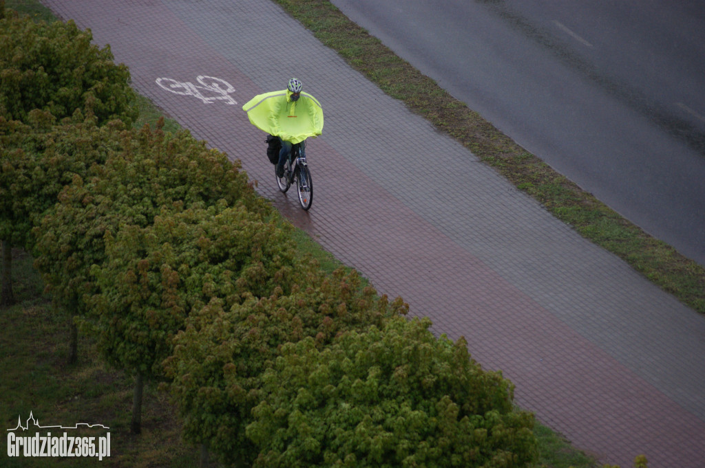
[[[263,196],[380,293],[402,296],[434,332],[465,336],[475,360],[513,381],[517,404],[577,448],[623,468],[642,453],[652,468],[705,467],[704,317],[386,96],[280,7],[42,2],[110,44],[137,91],[241,160]],[[307,146],[308,213],[276,189],[265,135],[241,108],[292,76],[326,118]]]

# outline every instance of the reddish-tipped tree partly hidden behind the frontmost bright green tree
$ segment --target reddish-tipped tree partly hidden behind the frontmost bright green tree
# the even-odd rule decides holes
[[[341,331],[407,312],[400,298],[389,303],[360,283],[355,271],[326,276],[302,268],[290,292],[277,288],[271,296],[250,295],[230,307],[214,301],[192,312],[165,362],[185,439],[206,445],[221,462],[251,464],[256,452],[245,427],[262,398],[262,375],[284,343],[309,336],[324,346]]]

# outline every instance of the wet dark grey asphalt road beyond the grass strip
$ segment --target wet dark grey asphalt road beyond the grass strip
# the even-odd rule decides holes
[[[702,1],[332,3],[528,151],[705,265]]]

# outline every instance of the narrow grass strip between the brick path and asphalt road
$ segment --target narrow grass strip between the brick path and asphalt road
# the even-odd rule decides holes
[[[705,268],[646,234],[502,134],[327,0],[274,0],[390,96],[427,118],[582,236],[705,313]]]

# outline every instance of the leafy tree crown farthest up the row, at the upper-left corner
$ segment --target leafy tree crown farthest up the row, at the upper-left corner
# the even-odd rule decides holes
[[[130,72],[114,63],[109,46],[92,44],[73,21],[35,23],[28,16],[0,20],[0,116],[27,122],[32,110],[61,120],[76,109],[98,125],[137,118]]]

